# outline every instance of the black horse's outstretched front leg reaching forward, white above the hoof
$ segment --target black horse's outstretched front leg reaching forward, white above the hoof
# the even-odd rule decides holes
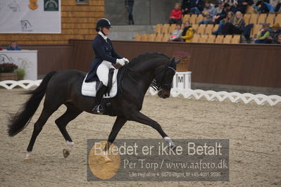
[[[161,125],[158,124],[158,122],[151,120],[146,115],[142,114],[142,112],[139,111],[133,112],[128,120],[139,122],[142,124],[147,124],[150,127],[156,129],[156,131],[158,131],[158,133],[161,134],[162,138],[164,138],[164,140],[169,143],[170,148],[175,148],[175,143],[173,143],[172,139],[163,131]]]

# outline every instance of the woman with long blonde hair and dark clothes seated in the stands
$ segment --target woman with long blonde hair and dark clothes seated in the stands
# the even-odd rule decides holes
[[[232,22],[226,22],[224,28],[224,34],[242,34],[244,30],[245,22],[243,15],[240,11],[235,13],[235,18]]]

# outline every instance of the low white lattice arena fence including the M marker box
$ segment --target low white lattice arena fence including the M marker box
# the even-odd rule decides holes
[[[32,86],[39,86],[42,80],[21,80],[12,81],[6,80],[0,82],[0,86],[6,89],[13,89],[15,86],[20,86],[23,89],[30,89]],[[149,93],[152,96],[156,95],[157,92],[151,87],[149,88]],[[263,105],[268,103],[269,105],[276,105],[281,102],[280,96],[266,96],[263,94],[251,94],[251,93],[238,93],[238,92],[226,92],[226,91],[204,91],[201,89],[192,90],[191,89],[191,72],[177,72],[173,79],[173,89],[170,91],[171,96],[177,97],[182,95],[184,98],[194,98],[199,100],[205,98],[208,101],[225,101],[230,100],[232,103],[250,103],[251,101],[256,102],[258,105]]]

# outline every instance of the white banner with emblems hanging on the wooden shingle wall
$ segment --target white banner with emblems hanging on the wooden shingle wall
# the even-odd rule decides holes
[[[61,0],[0,0],[0,33],[61,33]]]

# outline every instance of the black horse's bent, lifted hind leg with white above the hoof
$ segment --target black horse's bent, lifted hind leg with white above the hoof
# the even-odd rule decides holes
[[[80,115],[82,110],[75,108],[73,105],[65,105],[67,106],[67,110],[61,117],[56,120],[56,125],[58,126],[58,129],[60,129],[61,134],[63,134],[66,145],[68,146],[68,149],[63,149],[63,157],[66,158],[70,154],[70,151],[72,150],[74,145],[72,139],[68,134],[68,131],[66,130],[66,125],[68,124],[68,122],[74,120],[78,115]]]

